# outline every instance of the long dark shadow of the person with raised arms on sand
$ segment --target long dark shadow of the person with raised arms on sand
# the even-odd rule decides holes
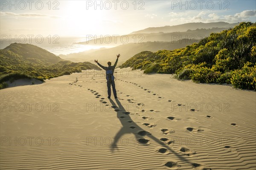
[[[111,102],[111,105],[115,107],[116,104],[113,102],[113,100],[112,99],[109,99],[109,100]],[[122,127],[120,128],[118,133],[116,133],[116,136],[115,136],[115,140],[114,141],[116,143],[125,134],[133,133],[134,136],[135,136],[135,139],[137,139],[138,143],[140,143],[140,144],[147,144],[149,141],[147,139],[143,138],[143,136],[146,136],[147,138],[149,138],[151,140],[154,140],[155,142],[160,144],[160,146],[165,147],[167,150],[169,150],[170,153],[175,154],[181,161],[184,161],[184,162],[186,162],[188,164],[192,163],[188,159],[186,159],[183,155],[180,155],[179,153],[177,153],[174,150],[172,150],[172,148],[169,146],[169,144],[172,144],[172,142],[169,141],[169,143],[168,143],[168,141],[161,141],[160,139],[157,139],[151,133],[147,132],[146,130],[144,130],[143,128],[138,126],[135,122],[133,122],[131,117],[130,117],[130,115],[129,115],[129,112],[125,111],[125,108],[122,106],[122,104],[119,102],[118,99],[116,99],[116,103],[118,105],[118,108],[115,108],[115,111],[117,113],[117,118],[122,123]],[[118,147],[116,146],[115,143],[112,143],[111,144],[111,151],[113,152],[115,149],[118,149]]]

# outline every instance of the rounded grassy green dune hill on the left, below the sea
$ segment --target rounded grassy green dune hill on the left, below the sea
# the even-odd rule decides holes
[[[90,62],[71,62],[30,44],[11,44],[0,50],[0,83],[23,77],[49,79],[99,67]]]

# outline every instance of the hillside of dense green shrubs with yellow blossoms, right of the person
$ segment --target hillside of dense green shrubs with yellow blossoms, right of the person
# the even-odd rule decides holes
[[[194,82],[231,83],[235,88],[256,89],[256,24],[212,33],[199,43],[173,51],[143,51],[121,68],[142,68],[145,73],[176,74]]]

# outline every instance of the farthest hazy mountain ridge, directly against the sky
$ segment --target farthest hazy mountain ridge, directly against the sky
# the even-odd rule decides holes
[[[186,23],[177,26],[163,26],[163,27],[149,27],[143,30],[134,31],[130,34],[142,34],[142,33],[158,33],[158,32],[184,32],[187,30],[195,30],[195,29],[211,29],[211,28],[233,28],[234,26],[239,25],[239,23],[225,23],[225,22],[217,22],[217,23]]]

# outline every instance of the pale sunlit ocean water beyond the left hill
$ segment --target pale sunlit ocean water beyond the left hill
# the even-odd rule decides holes
[[[35,40],[35,38],[29,38],[25,37],[23,39],[19,38],[13,38],[12,40],[3,40],[0,39],[0,49],[6,48],[11,43],[27,43],[36,45],[38,47],[44,48],[47,51],[55,54],[71,54],[71,53],[79,53],[82,51],[87,51],[90,49],[99,49],[105,47],[104,45],[81,45],[78,44],[78,42],[85,42],[86,38],[77,38],[77,37],[55,37],[55,38],[47,38],[44,37],[43,39],[41,37],[38,38],[38,40]]]

